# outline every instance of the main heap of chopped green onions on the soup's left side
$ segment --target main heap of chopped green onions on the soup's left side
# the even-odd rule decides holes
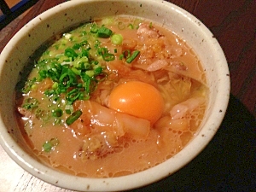
[[[44,90],[44,95],[48,96],[49,101],[54,105],[60,106],[57,108],[63,107],[63,112],[61,109],[51,108],[47,112],[49,118],[55,116],[56,120],[60,119],[58,117],[64,112],[71,114],[74,111],[73,102],[90,99],[90,93],[96,90],[97,84],[102,79],[107,77],[107,74],[103,72],[101,62],[115,59],[115,55],[110,53],[108,48],[101,47],[102,43],[99,40],[100,38],[112,38],[113,32],[103,25],[99,26],[96,23],[89,25],[90,28],[86,28],[88,31],[84,31],[84,27],[81,27],[79,36],[74,35],[73,32],[63,34],[62,38],[52,45],[53,51],[44,51],[45,56],[36,61],[34,66],[38,69],[38,77],[27,80],[25,86],[24,83],[22,84],[23,93],[28,93],[33,88],[37,88],[39,81],[47,78],[53,81],[53,84]],[[113,36],[113,38],[116,37],[119,35]],[[120,43],[117,41],[122,40],[120,38],[122,37],[115,39],[115,44]],[[114,54],[117,51],[115,49]],[[66,104],[61,102],[62,94],[66,97]],[[38,103],[26,102],[24,107],[37,110]],[[38,116],[40,115],[41,112]]]

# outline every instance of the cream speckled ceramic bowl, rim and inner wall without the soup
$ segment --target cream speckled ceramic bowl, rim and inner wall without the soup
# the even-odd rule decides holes
[[[209,105],[195,139],[164,163],[124,177],[75,177],[40,163],[26,147],[15,123],[15,84],[26,61],[40,44],[69,26],[108,15],[135,15],[154,20],[185,39],[199,55],[207,73]],[[79,191],[134,189],[177,172],[195,158],[218,130],[229,96],[230,77],[223,50],[207,27],[183,9],[159,0],[69,1],[30,21],[9,41],[0,55],[0,142],[9,156],[27,172],[56,186]]]

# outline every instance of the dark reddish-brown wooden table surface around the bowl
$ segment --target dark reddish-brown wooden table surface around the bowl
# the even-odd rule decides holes
[[[64,0],[39,0],[1,41],[0,51],[22,26]],[[200,19],[218,39],[230,67],[230,104],[207,148],[181,171],[134,191],[256,191],[256,1],[169,0]],[[0,191],[69,191],[15,167],[0,147]],[[4,172],[16,172],[17,180]],[[189,178],[189,179],[188,179]],[[3,188],[3,183],[5,188]],[[2,186],[2,187],[1,187]],[[3,190],[4,189],[4,190]]]

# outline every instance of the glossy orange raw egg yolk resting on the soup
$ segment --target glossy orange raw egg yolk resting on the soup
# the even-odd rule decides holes
[[[154,124],[163,112],[164,100],[160,91],[153,85],[140,81],[128,81],[112,90],[108,106],[121,113],[148,119]]]

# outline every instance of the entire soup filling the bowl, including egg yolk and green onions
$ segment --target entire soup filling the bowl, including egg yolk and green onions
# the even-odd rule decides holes
[[[207,108],[201,61],[150,20],[86,23],[30,65],[16,94],[20,131],[38,159],[76,176],[160,164],[195,137]]]

